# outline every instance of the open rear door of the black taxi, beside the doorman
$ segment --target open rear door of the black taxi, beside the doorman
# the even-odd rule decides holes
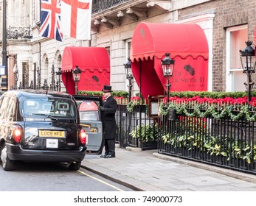
[[[100,106],[103,106],[101,96],[74,95],[80,115],[80,125],[86,130],[87,153],[101,154],[103,142],[103,116]]]

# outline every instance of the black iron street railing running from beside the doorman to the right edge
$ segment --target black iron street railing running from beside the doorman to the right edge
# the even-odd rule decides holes
[[[187,116],[173,110],[174,115],[149,118],[147,108],[137,105],[128,112],[126,105],[118,104],[116,141],[120,147],[157,149],[161,154],[256,174],[256,121],[248,120],[248,114],[232,119],[228,115]],[[155,141],[145,141],[150,135]]]

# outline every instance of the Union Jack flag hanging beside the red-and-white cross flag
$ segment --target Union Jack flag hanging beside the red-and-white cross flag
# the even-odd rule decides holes
[[[60,3],[61,0],[41,0],[40,35],[42,37],[62,41]]]

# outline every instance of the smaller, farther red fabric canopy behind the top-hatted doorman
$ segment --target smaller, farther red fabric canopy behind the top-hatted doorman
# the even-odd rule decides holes
[[[75,65],[81,69],[78,90],[100,91],[110,82],[108,51],[103,47],[70,47],[63,51],[61,63],[62,81],[67,93],[75,94],[72,70]]]

